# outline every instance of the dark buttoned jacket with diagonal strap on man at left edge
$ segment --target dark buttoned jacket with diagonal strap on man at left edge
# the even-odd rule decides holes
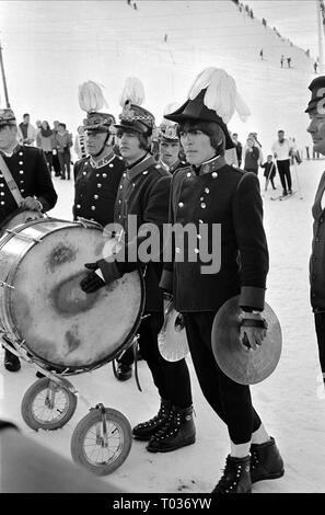
[[[34,196],[48,211],[57,203],[50,172],[43,150],[18,145],[11,157],[1,152],[22,196]],[[0,221],[18,209],[18,204],[0,172]]]

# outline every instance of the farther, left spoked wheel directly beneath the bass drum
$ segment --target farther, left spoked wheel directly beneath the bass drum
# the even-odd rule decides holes
[[[60,379],[72,387],[67,379]],[[77,397],[48,377],[34,382],[22,400],[21,413],[32,430],[54,431],[63,427],[77,408]]]

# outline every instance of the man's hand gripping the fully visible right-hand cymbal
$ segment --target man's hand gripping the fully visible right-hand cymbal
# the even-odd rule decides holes
[[[258,350],[266,337],[267,322],[265,319],[260,313],[243,312],[240,316],[240,342],[245,351]]]

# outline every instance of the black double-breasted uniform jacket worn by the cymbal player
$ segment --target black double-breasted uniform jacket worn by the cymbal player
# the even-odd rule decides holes
[[[161,287],[174,294],[178,311],[216,311],[237,294],[241,306],[264,309],[268,251],[259,183],[254,173],[227,164],[223,157],[207,161],[199,170],[178,170],[171,185],[170,221],[182,226],[193,222],[198,233],[200,224],[207,224],[210,252],[211,225],[221,225],[218,273],[201,273],[201,265],[208,263],[200,262],[199,238],[194,249],[196,262],[176,262],[181,249],[174,241],[173,261],[164,265]],[[184,250],[186,256],[188,249]]]

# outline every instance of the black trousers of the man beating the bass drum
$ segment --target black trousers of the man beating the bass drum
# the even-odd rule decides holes
[[[141,356],[148,363],[153,382],[162,399],[179,408],[191,405],[190,379],[185,359],[166,362],[159,352],[158,334],[163,325],[162,312],[146,313],[139,327]]]

